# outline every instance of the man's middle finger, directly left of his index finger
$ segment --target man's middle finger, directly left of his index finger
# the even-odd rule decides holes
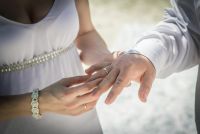
[[[112,69],[111,72],[99,84],[99,86],[93,91],[93,95],[100,96],[106,92],[113,85],[118,75],[119,69]]]

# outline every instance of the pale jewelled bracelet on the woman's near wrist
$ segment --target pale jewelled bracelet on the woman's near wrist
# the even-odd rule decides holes
[[[32,101],[31,101],[31,112],[32,112],[32,116],[35,119],[41,119],[42,115],[40,114],[40,110],[39,110],[39,89],[35,89],[32,92],[31,95]]]

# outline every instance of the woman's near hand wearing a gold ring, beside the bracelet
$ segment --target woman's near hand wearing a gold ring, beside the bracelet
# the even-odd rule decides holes
[[[79,115],[93,109],[98,98],[91,92],[102,79],[85,82],[87,79],[88,76],[65,78],[42,90],[41,113]]]

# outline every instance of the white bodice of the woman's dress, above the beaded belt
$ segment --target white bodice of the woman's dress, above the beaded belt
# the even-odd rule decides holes
[[[76,39],[78,30],[79,20],[73,3],[57,3],[53,12],[34,25],[0,18],[0,65],[66,48]]]

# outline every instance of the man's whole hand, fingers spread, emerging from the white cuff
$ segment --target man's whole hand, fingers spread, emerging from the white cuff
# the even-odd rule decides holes
[[[86,73],[93,74],[90,80],[104,78],[94,90],[95,96],[100,96],[112,87],[106,98],[107,104],[111,104],[131,81],[140,83],[138,95],[141,101],[146,102],[155,79],[154,66],[139,54],[123,54],[113,61],[91,66]]]

